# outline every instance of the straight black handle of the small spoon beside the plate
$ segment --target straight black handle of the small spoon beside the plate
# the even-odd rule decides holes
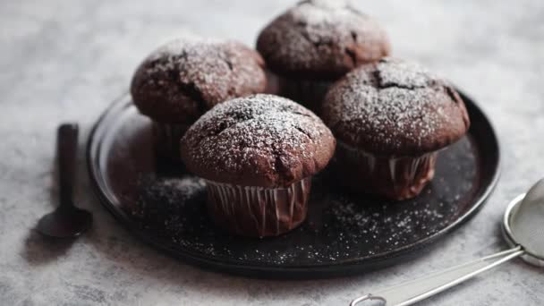
[[[75,178],[75,157],[78,149],[79,127],[76,123],[65,123],[57,132],[58,177],[61,207],[72,207]]]

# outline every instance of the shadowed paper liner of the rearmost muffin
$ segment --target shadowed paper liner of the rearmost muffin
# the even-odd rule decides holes
[[[268,93],[290,98],[318,115],[321,112],[323,98],[325,98],[328,89],[334,83],[334,81],[289,79],[269,71],[267,72],[267,78]]]

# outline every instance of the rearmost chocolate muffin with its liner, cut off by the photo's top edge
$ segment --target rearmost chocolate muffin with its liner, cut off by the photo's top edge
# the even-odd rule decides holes
[[[360,64],[389,55],[384,30],[344,1],[307,0],[262,30],[257,50],[271,91],[319,114],[329,86]]]

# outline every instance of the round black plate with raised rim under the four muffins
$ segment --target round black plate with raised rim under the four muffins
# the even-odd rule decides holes
[[[155,174],[149,120],[129,97],[113,104],[89,137],[91,181],[104,206],[144,242],[204,268],[257,277],[361,273],[415,255],[472,217],[497,183],[497,137],[463,96],[472,119],[466,137],[440,151],[434,180],[413,200],[392,202],[314,178],[306,222],[266,239],[231,236],[206,214],[204,183],[191,174]]]

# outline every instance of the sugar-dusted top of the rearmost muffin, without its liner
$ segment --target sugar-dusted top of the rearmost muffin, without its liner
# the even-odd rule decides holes
[[[258,49],[273,70],[340,75],[389,53],[378,22],[345,1],[333,0],[295,5],[261,32]]]

